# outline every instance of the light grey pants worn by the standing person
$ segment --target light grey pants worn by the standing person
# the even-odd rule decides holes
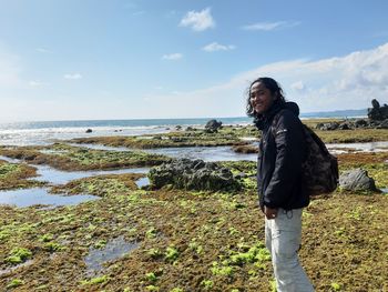
[[[278,210],[265,219],[265,245],[270,252],[278,292],[314,292],[298,260],[302,236],[302,209]]]

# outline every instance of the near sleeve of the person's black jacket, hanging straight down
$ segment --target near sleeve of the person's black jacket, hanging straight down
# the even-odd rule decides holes
[[[300,183],[305,138],[299,119],[290,111],[283,111],[272,130],[275,135],[276,159],[274,172],[264,193],[264,204],[279,208],[289,200],[295,183]]]

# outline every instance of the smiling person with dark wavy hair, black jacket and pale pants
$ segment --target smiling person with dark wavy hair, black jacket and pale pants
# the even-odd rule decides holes
[[[302,183],[306,147],[298,119],[299,108],[285,101],[283,90],[274,79],[259,78],[249,87],[247,114],[255,118],[262,130],[257,188],[277,291],[314,291],[297,255],[302,209],[309,203]]]

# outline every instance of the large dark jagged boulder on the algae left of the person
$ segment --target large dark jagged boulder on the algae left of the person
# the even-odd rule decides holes
[[[201,159],[178,159],[152,168],[149,172],[151,188],[173,185],[176,189],[197,191],[232,191],[239,189],[231,170]]]

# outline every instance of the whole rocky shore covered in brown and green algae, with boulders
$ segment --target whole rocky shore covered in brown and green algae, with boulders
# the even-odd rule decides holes
[[[317,121],[305,121],[314,128]],[[272,291],[257,208],[255,161],[173,159],[146,149],[234,147],[254,153],[252,127],[181,129],[144,137],[88,138],[0,148],[0,197],[44,187],[99,200],[74,205],[0,204],[1,291]],[[216,129],[215,129],[216,128]],[[388,141],[388,130],[316,130],[325,141]],[[351,140],[353,139],[353,140]],[[95,150],[95,143],[127,151]],[[337,155],[340,187],[304,211],[300,254],[316,291],[385,291],[388,149]],[[37,168],[65,172],[151,168],[53,184]],[[149,177],[150,184],[139,187]],[[32,189],[31,189],[32,190]],[[380,191],[382,190],[382,191]]]

